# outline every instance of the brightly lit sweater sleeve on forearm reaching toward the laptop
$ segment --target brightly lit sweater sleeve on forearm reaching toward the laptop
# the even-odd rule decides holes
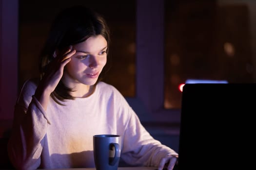
[[[154,139],[142,126],[138,116],[132,110],[123,135],[122,159],[134,166],[158,166],[161,158],[178,155],[171,148]]]

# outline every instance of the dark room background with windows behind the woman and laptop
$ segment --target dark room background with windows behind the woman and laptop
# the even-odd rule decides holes
[[[111,29],[114,85],[142,124],[178,148],[180,86],[187,80],[256,82],[255,0],[0,0],[0,138],[8,138],[25,80],[52,19],[83,4]],[[6,135],[7,134],[7,135]]]

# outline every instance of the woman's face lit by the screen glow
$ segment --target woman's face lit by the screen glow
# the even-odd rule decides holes
[[[102,35],[89,37],[73,46],[76,53],[65,66],[64,82],[67,85],[94,85],[107,63],[107,41]]]

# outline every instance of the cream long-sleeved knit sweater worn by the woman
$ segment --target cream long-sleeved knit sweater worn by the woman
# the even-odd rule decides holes
[[[51,99],[47,110],[33,96],[36,88],[27,81],[15,106],[8,153],[16,169],[95,167],[96,134],[122,136],[121,158],[133,166],[158,166],[163,156],[177,155],[145,130],[112,85],[99,82],[91,96],[64,106]]]

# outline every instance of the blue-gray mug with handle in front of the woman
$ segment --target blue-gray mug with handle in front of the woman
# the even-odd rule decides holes
[[[121,136],[94,135],[93,153],[96,170],[118,170]]]

